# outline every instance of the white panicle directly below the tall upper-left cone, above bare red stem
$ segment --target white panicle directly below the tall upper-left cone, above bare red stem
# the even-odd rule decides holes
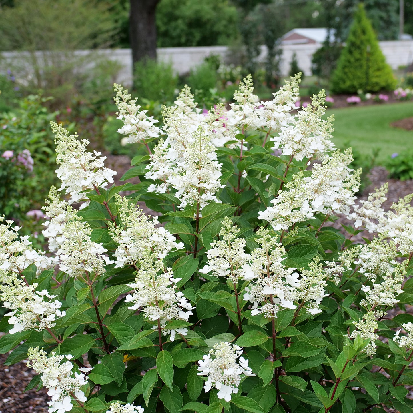
[[[60,270],[71,277],[88,277],[94,273],[99,277],[106,272],[105,265],[111,261],[104,252],[102,243],[90,239],[92,230],[87,222],[82,221],[70,206],[67,207],[67,221],[62,230],[64,241],[56,254],[60,257]]]

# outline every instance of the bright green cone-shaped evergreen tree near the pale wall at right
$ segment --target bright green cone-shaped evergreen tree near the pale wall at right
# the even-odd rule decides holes
[[[358,5],[346,45],[332,76],[334,93],[393,90],[396,80],[362,4]]]

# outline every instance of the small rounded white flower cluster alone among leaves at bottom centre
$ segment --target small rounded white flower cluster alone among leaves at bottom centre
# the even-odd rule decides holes
[[[198,375],[207,376],[205,392],[212,387],[218,390],[218,399],[231,400],[231,394],[238,393],[242,375],[255,376],[248,367],[248,360],[242,357],[242,347],[228,342],[214,344],[209,354],[199,360]]]

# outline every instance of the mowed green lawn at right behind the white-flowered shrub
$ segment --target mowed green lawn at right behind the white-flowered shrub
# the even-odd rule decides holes
[[[411,150],[413,131],[394,128],[390,124],[404,118],[413,117],[413,102],[394,104],[373,104],[361,107],[328,109],[327,115],[334,114],[333,142],[337,148],[349,146],[357,148],[361,154],[372,154],[380,148],[376,162],[383,164],[395,152]]]

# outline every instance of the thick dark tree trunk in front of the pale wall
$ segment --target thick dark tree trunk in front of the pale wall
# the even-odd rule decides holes
[[[143,59],[156,59],[155,11],[159,0],[130,0],[129,34],[133,66]]]

